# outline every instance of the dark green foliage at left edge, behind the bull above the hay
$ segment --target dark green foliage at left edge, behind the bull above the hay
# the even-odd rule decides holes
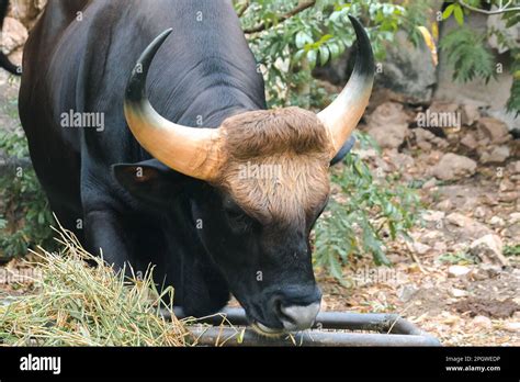
[[[10,158],[29,157],[23,133],[0,132],[0,149]],[[55,247],[47,199],[32,168],[12,166],[0,177],[0,259],[21,257],[29,248]]]

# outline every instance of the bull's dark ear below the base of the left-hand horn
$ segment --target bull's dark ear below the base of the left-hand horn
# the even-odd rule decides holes
[[[157,159],[112,166],[117,182],[132,195],[162,206],[178,195],[194,179],[179,173]]]

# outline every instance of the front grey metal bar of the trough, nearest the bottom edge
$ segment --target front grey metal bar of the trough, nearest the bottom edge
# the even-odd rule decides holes
[[[251,329],[237,330],[230,327],[190,327],[200,346],[305,346],[305,347],[337,347],[337,346],[440,346],[437,338],[416,335],[386,334],[352,334],[338,332],[301,332],[281,338],[262,337]]]

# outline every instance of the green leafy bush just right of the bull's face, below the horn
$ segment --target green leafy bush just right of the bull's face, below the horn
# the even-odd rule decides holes
[[[363,135],[358,137],[369,144]],[[385,234],[392,240],[409,238],[420,212],[417,193],[395,178],[375,178],[355,154],[348,155],[343,165],[332,175],[341,193],[331,198],[315,228],[316,262],[339,280],[351,256],[371,254],[376,265],[388,266]]]

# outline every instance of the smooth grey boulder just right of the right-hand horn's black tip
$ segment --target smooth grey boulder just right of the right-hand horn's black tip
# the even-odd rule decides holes
[[[429,103],[437,83],[436,66],[426,44],[415,46],[404,31],[385,47],[383,71],[376,76],[376,87],[402,93],[409,103]]]

